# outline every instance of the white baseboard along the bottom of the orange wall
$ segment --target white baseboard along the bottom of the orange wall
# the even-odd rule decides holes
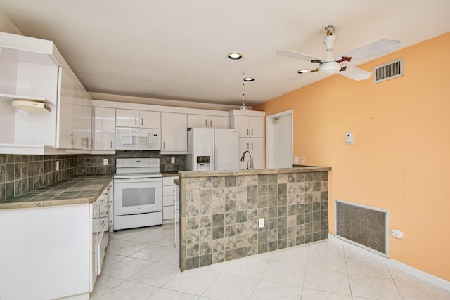
[[[361,254],[369,256],[369,257],[376,259],[377,261],[380,261],[382,263],[385,263],[385,264],[387,264],[387,266],[392,266],[394,268],[397,268],[397,269],[403,271],[404,273],[413,275],[414,277],[416,277],[420,280],[423,280],[432,285],[436,285],[437,287],[440,287],[442,289],[446,289],[447,291],[450,291],[450,282],[447,280],[444,280],[435,275],[431,275],[429,273],[423,272],[422,270],[418,270],[416,268],[413,268],[409,265],[406,265],[405,263],[401,263],[394,259],[388,259],[387,257],[380,256],[380,255],[375,254],[371,251],[368,251],[364,248],[358,247],[355,244],[351,244],[349,242],[345,242],[344,240],[340,240],[338,237],[335,237],[334,235],[331,235],[329,233],[328,233],[328,240],[337,242],[338,244],[342,244],[342,246],[345,246],[347,248],[350,248],[352,250],[360,252]]]

